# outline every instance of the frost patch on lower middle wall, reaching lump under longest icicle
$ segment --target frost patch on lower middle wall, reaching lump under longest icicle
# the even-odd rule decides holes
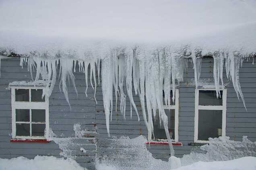
[[[111,150],[110,155],[97,157],[96,169],[106,166],[116,170],[168,170],[181,166],[180,159],[174,156],[170,157],[169,162],[153,158],[147,150],[146,142],[147,139],[144,136],[133,139],[128,137],[113,139],[111,147],[105,148]]]

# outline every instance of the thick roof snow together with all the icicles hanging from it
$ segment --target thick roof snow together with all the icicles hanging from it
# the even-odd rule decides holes
[[[0,3],[0,15],[4,16],[0,18],[4,23],[0,27],[0,51],[1,55],[21,55],[21,66],[27,64],[31,75],[32,70],[36,70],[33,81],[39,81],[41,75],[47,82],[49,88],[44,95],[52,94],[59,76],[59,87],[68,105],[67,80],[71,80],[77,93],[73,71],[79,71],[85,74],[88,87],[90,65],[90,84],[96,102],[97,84],[100,83],[96,72],[98,77],[101,73],[108,135],[114,108],[113,89],[115,97],[120,97],[124,118],[127,97],[130,110],[134,109],[140,120],[132,95],[134,89],[142,105],[148,140],[153,135],[152,115],[155,117],[158,109],[159,122],[163,123],[171,142],[167,115],[162,107],[163,91],[165,94],[170,94],[171,89],[175,92],[175,86],[184,80],[189,62],[193,63],[198,88],[201,57],[213,57],[216,97],[224,88],[225,72],[246,108],[239,68],[244,59],[255,57],[255,7],[255,0],[139,3],[111,0],[100,5],[95,2],[6,0]],[[57,76],[58,67],[60,74]],[[174,101],[175,96],[166,95],[165,103],[170,104],[171,97]],[[173,156],[171,143],[169,146]]]

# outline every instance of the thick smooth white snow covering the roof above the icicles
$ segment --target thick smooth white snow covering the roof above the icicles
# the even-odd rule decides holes
[[[2,0],[0,48],[19,54],[76,51],[80,57],[91,49],[106,53],[134,45],[251,53],[255,8],[256,0]]]

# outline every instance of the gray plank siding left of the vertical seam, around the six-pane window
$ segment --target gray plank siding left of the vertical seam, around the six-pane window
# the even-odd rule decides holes
[[[61,157],[59,146],[53,141],[50,143],[13,143],[10,142],[11,131],[11,95],[8,84],[12,81],[31,81],[31,75],[27,71],[27,66],[23,69],[19,66],[19,59],[1,60],[1,78],[0,78],[0,158],[15,158],[25,156],[34,158],[36,155]],[[94,90],[89,86],[87,90],[88,97],[85,96],[85,76],[82,73],[74,73],[76,78],[76,95],[74,88],[68,85],[69,101],[71,111],[63,93],[60,93],[59,82],[49,99],[50,128],[57,136],[74,137],[74,124],[80,123],[82,128],[95,130],[95,101]],[[35,73],[33,74],[35,76]],[[95,160],[96,146],[87,140],[79,142],[70,147],[71,153],[76,156],[76,161],[81,166],[88,169],[95,169],[93,164]],[[82,143],[82,144],[81,144]],[[93,145],[93,147],[92,147]],[[83,147],[89,150],[87,155],[80,151]]]

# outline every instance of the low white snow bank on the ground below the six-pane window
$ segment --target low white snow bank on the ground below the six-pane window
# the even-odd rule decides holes
[[[87,170],[71,158],[54,156],[35,156],[27,159],[23,156],[12,159],[0,158],[0,170]]]

